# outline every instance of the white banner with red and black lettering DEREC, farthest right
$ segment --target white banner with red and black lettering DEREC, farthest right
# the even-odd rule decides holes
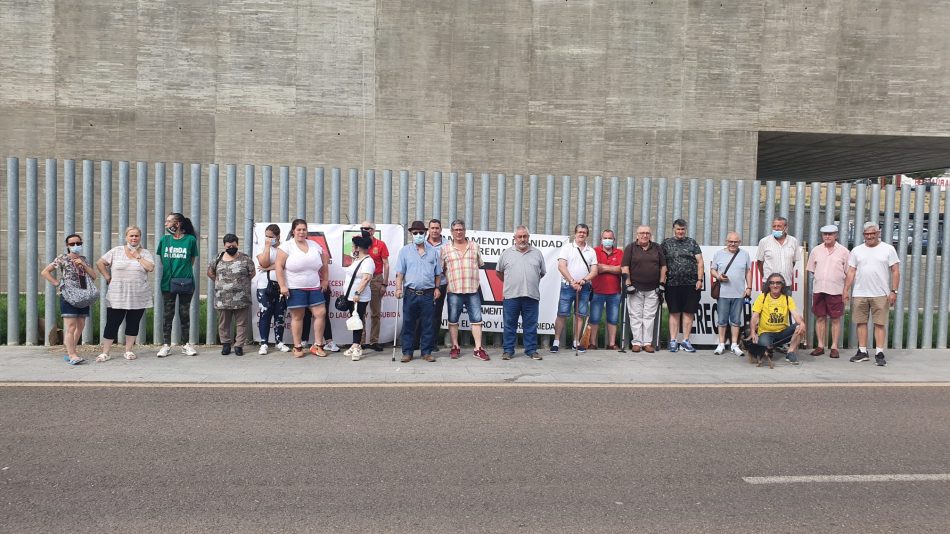
[[[716,255],[716,252],[722,250],[724,247],[701,246],[700,248],[703,251],[703,260],[706,262],[705,278],[703,280],[702,294],[699,299],[699,308],[696,310],[696,317],[693,320],[693,331],[689,339],[693,345],[715,345],[719,343],[719,327],[716,326],[719,322],[719,314],[716,300],[709,294],[712,285],[709,278],[709,264]],[[757,266],[755,265],[755,254],[758,251],[758,247],[748,246],[740,248],[748,252],[749,257],[752,258],[752,297],[750,301],[755,302],[755,299],[762,293],[762,273],[758,272]],[[805,270],[803,258],[804,253],[802,249],[799,248],[798,254],[795,257],[795,275],[793,279],[789,281],[792,286],[792,298],[795,300],[799,311],[802,311],[802,308],[806,305],[804,299],[804,284],[802,284],[802,273]],[[751,304],[746,304],[743,307],[743,314],[745,318],[744,324],[749,324],[749,319],[752,317]]]

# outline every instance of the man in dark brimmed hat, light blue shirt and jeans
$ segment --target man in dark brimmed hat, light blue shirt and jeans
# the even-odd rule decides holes
[[[396,298],[401,299],[405,295],[402,307],[402,362],[412,361],[417,325],[421,330],[419,349],[422,359],[434,362],[432,307],[439,298],[442,266],[439,265],[438,249],[426,246],[426,225],[422,221],[412,221],[409,234],[412,242],[399,250],[396,259]]]

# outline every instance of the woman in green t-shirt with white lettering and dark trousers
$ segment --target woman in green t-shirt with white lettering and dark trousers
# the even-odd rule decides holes
[[[175,320],[177,301],[178,320],[182,336],[187,337],[191,326],[191,297],[195,293],[194,263],[198,256],[198,236],[191,219],[181,213],[169,213],[165,217],[165,235],[158,242],[158,257],[162,262],[162,348],[158,357],[164,358],[171,351],[172,322]],[[181,351],[189,356],[198,351],[186,342]]]

